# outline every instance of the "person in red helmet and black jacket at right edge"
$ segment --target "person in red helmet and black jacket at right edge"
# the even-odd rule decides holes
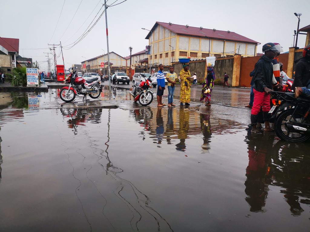
[[[310,44],[303,49],[303,57],[295,62],[295,79],[292,89],[295,89],[297,93],[295,96],[298,97],[306,89],[309,89],[310,92]]]

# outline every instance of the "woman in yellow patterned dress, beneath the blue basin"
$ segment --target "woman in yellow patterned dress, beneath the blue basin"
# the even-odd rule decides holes
[[[180,71],[179,78],[181,79],[180,89],[180,105],[189,105],[191,101],[191,73],[188,71],[189,63],[184,63]]]

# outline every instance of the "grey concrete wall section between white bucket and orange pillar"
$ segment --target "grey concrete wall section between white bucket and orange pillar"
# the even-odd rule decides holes
[[[224,73],[226,72],[229,76],[228,84],[232,86],[233,57],[217,58],[213,69],[216,79],[220,79],[221,83],[224,83]]]

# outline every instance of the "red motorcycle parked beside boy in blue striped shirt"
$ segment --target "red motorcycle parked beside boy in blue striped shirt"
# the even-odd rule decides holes
[[[141,75],[144,79],[146,79],[144,74]],[[139,101],[139,103],[143,106],[151,104],[154,96],[153,91],[148,89],[152,88],[150,83],[152,83],[152,80],[149,77],[145,81],[141,81],[140,83],[135,82],[135,84],[133,84],[132,91],[129,91],[129,93],[135,98],[135,102]]]

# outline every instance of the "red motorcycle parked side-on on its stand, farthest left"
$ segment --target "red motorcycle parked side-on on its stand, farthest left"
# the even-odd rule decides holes
[[[65,82],[70,84],[65,86],[60,91],[60,98],[65,102],[73,101],[76,95],[84,95],[83,101],[87,101],[87,94],[91,98],[98,98],[100,96],[101,81],[97,77],[89,80],[85,80],[82,77],[78,77],[76,71],[72,71],[65,79]]]

